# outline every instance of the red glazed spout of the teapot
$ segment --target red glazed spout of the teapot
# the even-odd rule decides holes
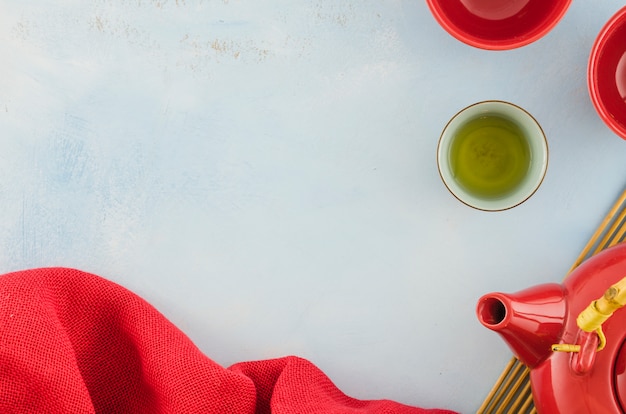
[[[567,311],[565,293],[556,283],[513,294],[490,293],[478,300],[476,315],[486,328],[500,334],[515,356],[533,368],[558,343]]]

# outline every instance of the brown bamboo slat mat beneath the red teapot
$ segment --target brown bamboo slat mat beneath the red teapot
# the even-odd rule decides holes
[[[623,241],[626,241],[626,191],[615,202],[567,274],[594,254]],[[536,414],[529,374],[528,368],[513,357],[477,414]]]

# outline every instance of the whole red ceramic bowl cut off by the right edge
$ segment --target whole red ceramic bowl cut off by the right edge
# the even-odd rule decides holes
[[[611,17],[596,38],[587,85],[600,118],[626,139],[626,7]]]

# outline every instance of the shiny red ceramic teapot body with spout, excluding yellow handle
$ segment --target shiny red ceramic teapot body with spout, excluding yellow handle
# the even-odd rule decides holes
[[[515,294],[491,293],[478,301],[477,316],[499,333],[530,368],[540,414],[626,412],[626,308],[613,312],[596,332],[577,325],[579,314],[626,277],[626,243],[581,264],[562,285],[536,286]],[[552,346],[578,345],[579,352]]]

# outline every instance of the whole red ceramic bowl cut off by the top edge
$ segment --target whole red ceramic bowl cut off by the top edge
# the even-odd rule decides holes
[[[426,0],[439,24],[468,45],[514,49],[548,33],[571,0]]]

